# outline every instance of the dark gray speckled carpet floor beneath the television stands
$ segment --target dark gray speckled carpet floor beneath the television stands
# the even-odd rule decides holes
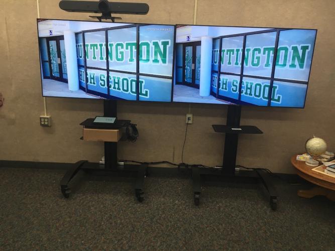
[[[130,178],[84,180],[69,199],[64,170],[0,169],[1,250],[335,250],[335,203],[299,198],[276,180],[277,211],[256,184],[204,186],[151,176],[139,203]]]

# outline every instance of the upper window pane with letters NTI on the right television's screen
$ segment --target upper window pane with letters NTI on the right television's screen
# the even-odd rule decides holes
[[[222,38],[221,71],[241,73],[243,36]]]

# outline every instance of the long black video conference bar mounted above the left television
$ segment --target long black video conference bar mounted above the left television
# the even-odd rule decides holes
[[[101,13],[101,16],[89,16],[90,18],[111,20],[115,22],[120,17],[112,17],[111,14],[135,14],[146,15],[149,12],[149,6],[143,3],[109,3],[108,0],[93,1],[70,1],[62,0],[59,2],[59,8],[67,12],[87,12]]]

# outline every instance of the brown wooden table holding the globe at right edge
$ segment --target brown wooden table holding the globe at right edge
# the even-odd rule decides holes
[[[292,156],[291,163],[301,178],[316,185],[309,190],[298,190],[298,196],[312,198],[316,195],[324,195],[335,201],[335,178],[312,171],[314,167],[307,166],[304,161],[296,160],[296,155]]]

